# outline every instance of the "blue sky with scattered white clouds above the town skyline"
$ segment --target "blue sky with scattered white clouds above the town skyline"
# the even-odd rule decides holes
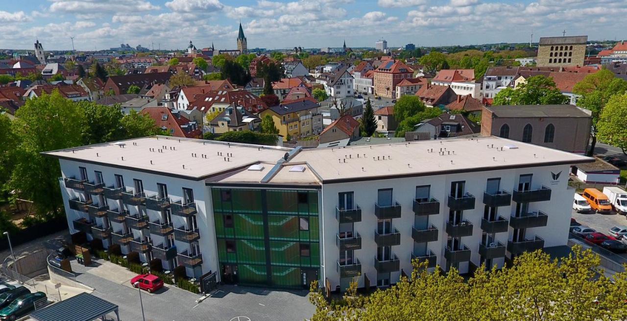
[[[625,0],[2,0],[0,48],[249,48],[525,42],[534,33],[620,39]]]

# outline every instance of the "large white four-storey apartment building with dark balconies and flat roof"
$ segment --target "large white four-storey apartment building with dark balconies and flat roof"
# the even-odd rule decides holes
[[[189,276],[332,289],[396,283],[414,257],[466,273],[566,246],[569,166],[593,161],[498,137],[301,150],[159,136],[45,154],[71,233]]]

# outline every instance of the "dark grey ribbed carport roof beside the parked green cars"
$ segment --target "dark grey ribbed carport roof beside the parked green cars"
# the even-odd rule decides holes
[[[93,321],[111,312],[115,312],[117,320],[120,321],[117,305],[90,293],[80,293],[31,313],[31,318],[37,321]]]

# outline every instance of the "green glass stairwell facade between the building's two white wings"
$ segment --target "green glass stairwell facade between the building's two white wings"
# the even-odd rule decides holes
[[[211,196],[224,282],[308,288],[317,280],[317,191],[212,188]]]

